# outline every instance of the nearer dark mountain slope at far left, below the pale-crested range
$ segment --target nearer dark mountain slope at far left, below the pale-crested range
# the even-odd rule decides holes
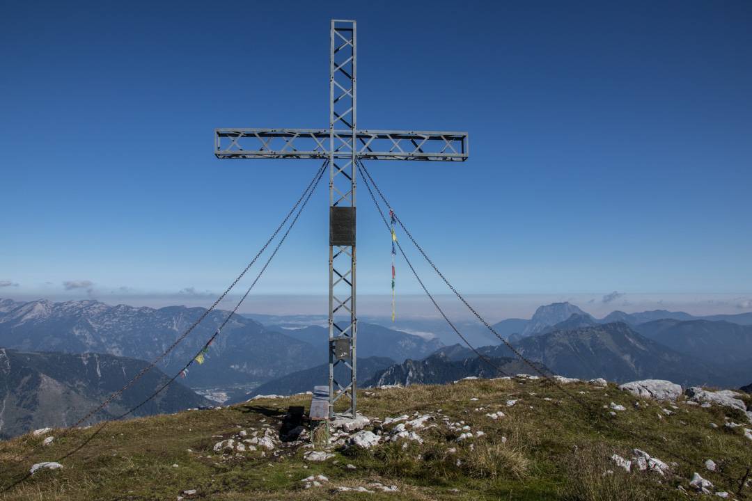
[[[0,348],[0,438],[7,439],[35,428],[70,426],[122,388],[146,365],[144,361],[113,355],[32,353]],[[162,371],[151,370],[85,424],[126,412],[166,380]],[[207,405],[208,400],[174,383],[134,415],[177,412]]]

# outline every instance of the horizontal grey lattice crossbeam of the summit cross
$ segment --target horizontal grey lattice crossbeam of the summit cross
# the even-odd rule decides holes
[[[329,129],[217,128],[217,158],[330,158]],[[352,131],[334,131],[335,158],[352,158]],[[468,134],[448,131],[357,131],[362,160],[465,161]]]

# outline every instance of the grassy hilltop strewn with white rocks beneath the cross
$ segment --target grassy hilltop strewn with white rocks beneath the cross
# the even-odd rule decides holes
[[[279,439],[288,406],[308,406],[310,397],[303,395],[114,422],[76,454],[60,460],[62,469],[36,472],[0,494],[0,501],[175,500],[178,496],[186,501],[699,499],[702,495],[689,486],[694,472],[713,482],[715,490],[729,491],[728,499],[752,498],[752,487],[736,495],[738,485],[725,483],[720,474],[741,478],[746,466],[752,465],[752,440],[744,436],[750,424],[743,412],[689,405],[684,397],[676,403],[641,400],[614,385],[564,386],[587,409],[539,379],[360,391],[359,410],[374,420],[365,429],[381,433],[381,442],[368,449],[335,445],[329,450],[333,456],[323,461],[304,458],[312,450],[306,446],[310,441]],[[510,406],[510,400],[516,402]],[[613,409],[611,403],[625,409]],[[499,411],[503,416],[489,416]],[[379,423],[400,415],[408,418]],[[405,425],[426,415],[429,418],[418,419],[419,424]],[[407,436],[390,441],[400,425]],[[92,430],[74,430],[53,439],[24,461],[32,446],[59,430],[0,442],[0,484],[10,484],[33,463],[57,460]],[[472,436],[459,439],[463,433]],[[234,445],[217,445],[231,438]],[[350,437],[333,434],[332,440],[337,439],[348,442]],[[238,447],[239,443],[244,446]],[[271,450],[264,445],[271,445]],[[671,471],[664,476],[635,471],[635,465],[627,473],[611,460],[612,454],[629,459],[634,448],[660,458]],[[705,468],[708,459],[717,463],[717,472]],[[326,479],[302,481],[311,475]]]

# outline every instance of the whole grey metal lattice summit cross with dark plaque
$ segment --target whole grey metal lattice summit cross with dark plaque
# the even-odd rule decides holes
[[[329,31],[329,128],[217,128],[217,158],[322,158],[329,161],[329,417],[350,397],[356,415],[355,188],[362,160],[464,161],[468,134],[370,131],[356,126],[356,23]],[[335,379],[344,364],[350,382]]]

